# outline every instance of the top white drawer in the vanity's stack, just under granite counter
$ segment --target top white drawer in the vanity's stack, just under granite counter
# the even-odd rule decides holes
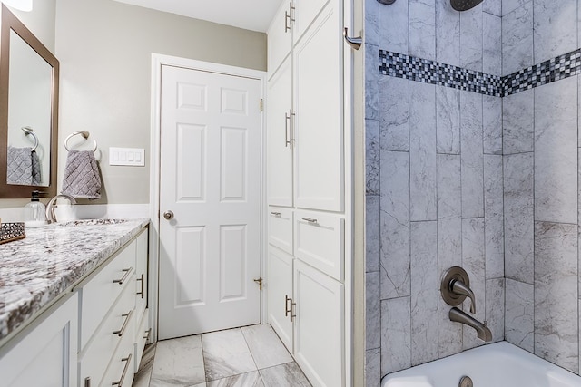
[[[107,311],[123,290],[129,286],[133,305],[135,284],[135,241],[117,253],[113,259],[81,289],[80,348],[83,349]]]

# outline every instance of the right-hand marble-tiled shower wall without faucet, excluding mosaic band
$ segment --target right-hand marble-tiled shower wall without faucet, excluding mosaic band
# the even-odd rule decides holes
[[[576,0],[503,3],[512,73],[576,50]],[[504,98],[507,341],[579,372],[579,76]]]

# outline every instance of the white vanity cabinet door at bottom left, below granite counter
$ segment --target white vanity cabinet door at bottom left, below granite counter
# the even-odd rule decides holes
[[[22,341],[9,352],[0,352],[0,386],[76,385],[78,318],[78,298],[74,294],[40,324],[33,322],[30,329],[26,328]]]

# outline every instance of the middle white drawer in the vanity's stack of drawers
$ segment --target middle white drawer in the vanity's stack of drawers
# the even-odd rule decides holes
[[[97,385],[111,360],[111,356],[119,343],[126,336],[135,336],[135,320],[140,316],[135,315],[133,288],[126,286],[123,294],[113,305],[113,309],[94,335],[94,339],[84,349],[79,362],[79,375],[81,385],[86,378],[90,378],[91,385]]]

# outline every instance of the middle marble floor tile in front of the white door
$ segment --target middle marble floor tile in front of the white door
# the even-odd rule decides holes
[[[206,382],[256,371],[241,329],[202,334]]]

